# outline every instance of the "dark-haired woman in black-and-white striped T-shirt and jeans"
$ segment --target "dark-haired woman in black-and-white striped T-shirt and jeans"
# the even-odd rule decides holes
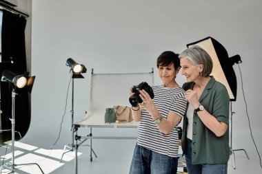
[[[132,116],[140,121],[130,174],[177,173],[179,133],[177,125],[185,114],[184,90],[175,78],[179,73],[179,55],[163,52],[157,58],[162,85],[152,87],[154,98],[143,89],[139,107],[132,107]],[[131,91],[130,95],[134,93]]]

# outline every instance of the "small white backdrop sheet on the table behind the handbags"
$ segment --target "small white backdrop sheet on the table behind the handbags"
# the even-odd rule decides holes
[[[129,89],[133,85],[147,82],[154,85],[154,73],[148,68],[148,72],[140,73],[118,73],[118,74],[97,74],[91,75],[90,98],[88,100],[88,111],[85,118],[77,124],[104,125],[105,109],[113,106],[130,106]],[[127,123],[127,124],[133,124]]]

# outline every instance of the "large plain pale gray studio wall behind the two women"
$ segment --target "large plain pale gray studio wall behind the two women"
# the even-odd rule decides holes
[[[236,102],[232,103],[233,149],[246,149],[251,158],[258,158],[245,101],[254,140],[262,153],[261,6],[259,0],[32,1],[32,75],[37,78],[32,90],[30,130],[21,141],[50,149],[56,140],[70,80],[67,58],[72,57],[88,68],[85,78],[74,83],[77,121],[88,109],[91,68],[96,73],[113,73],[148,72],[154,67],[157,72],[155,62],[161,52],[181,52],[187,43],[212,36],[228,50],[229,56],[239,54],[242,58],[241,72],[234,65],[238,92]],[[178,81],[182,85],[185,78],[180,74]],[[155,84],[160,84],[157,73]],[[70,95],[71,90],[57,149],[71,140]],[[103,97],[106,96],[101,96],[101,100]]]

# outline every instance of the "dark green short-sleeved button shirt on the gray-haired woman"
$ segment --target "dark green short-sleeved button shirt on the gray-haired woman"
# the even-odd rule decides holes
[[[194,83],[185,83],[183,89],[192,89]],[[224,85],[211,76],[208,85],[203,90],[199,102],[212,116],[220,122],[229,124],[230,98]],[[183,117],[182,149],[185,153],[186,127],[188,119]],[[192,164],[226,164],[230,157],[229,127],[225,134],[217,137],[205,127],[197,113],[193,116],[192,133]]]

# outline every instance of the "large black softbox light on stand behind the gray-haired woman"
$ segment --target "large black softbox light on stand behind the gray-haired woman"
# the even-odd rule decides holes
[[[210,75],[214,76],[217,81],[225,85],[228,90],[228,94],[230,96],[230,153],[234,157],[234,151],[244,151],[249,160],[250,158],[248,157],[248,153],[246,153],[245,149],[232,149],[232,116],[234,114],[232,111],[232,101],[236,101],[236,74],[234,74],[232,66],[234,64],[242,63],[241,57],[238,54],[229,57],[225,47],[223,47],[221,43],[212,37],[207,37],[194,43],[189,43],[187,44],[187,47],[192,45],[198,45],[199,47],[202,47],[205,52],[208,52],[213,61],[213,69]],[[233,165],[235,169],[235,158]]]

